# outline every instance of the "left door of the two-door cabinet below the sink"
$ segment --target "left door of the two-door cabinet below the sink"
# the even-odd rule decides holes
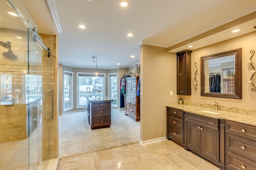
[[[199,125],[187,121],[188,148],[201,152],[201,130]]]

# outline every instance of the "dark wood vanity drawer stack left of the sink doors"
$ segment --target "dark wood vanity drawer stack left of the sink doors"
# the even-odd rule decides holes
[[[183,110],[167,107],[166,115],[166,138],[184,147]]]

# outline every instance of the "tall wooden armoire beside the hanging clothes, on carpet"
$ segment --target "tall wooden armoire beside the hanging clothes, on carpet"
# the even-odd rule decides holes
[[[139,77],[126,78],[126,111],[135,121],[140,121],[140,96],[137,96]]]

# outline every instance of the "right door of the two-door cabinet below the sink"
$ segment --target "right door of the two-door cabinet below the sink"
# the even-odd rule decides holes
[[[202,134],[202,154],[219,161],[219,131],[205,127],[200,129]]]

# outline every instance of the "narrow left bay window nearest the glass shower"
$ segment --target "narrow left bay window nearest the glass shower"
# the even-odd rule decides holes
[[[67,111],[73,109],[73,72],[63,72],[63,111]]]

